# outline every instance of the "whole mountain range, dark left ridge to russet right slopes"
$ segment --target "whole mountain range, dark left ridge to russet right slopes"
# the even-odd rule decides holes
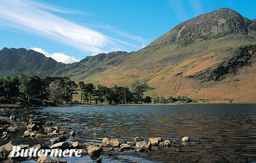
[[[256,20],[222,8],[184,21],[132,53],[102,53],[63,64],[31,50],[5,48],[0,74],[32,71],[131,89],[145,82],[155,88],[145,93],[152,97],[256,102],[255,52]]]

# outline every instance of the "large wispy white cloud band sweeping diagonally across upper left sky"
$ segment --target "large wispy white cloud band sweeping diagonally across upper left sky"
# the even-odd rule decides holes
[[[33,33],[92,54],[106,53],[112,49],[139,49],[141,43],[148,42],[113,28],[106,28],[110,34],[99,32],[57,16],[52,11],[77,12],[30,0],[1,0],[0,28]]]

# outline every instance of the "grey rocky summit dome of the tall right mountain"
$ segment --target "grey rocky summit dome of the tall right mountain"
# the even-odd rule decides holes
[[[238,12],[221,8],[186,20],[152,42],[151,46],[177,44],[186,46],[195,41],[220,38],[230,34],[253,35],[252,21]]]

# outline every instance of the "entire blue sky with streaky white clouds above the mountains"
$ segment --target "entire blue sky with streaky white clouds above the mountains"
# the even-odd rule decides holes
[[[255,0],[1,0],[0,49],[31,49],[62,63],[138,51],[181,22],[224,7],[256,18]]]

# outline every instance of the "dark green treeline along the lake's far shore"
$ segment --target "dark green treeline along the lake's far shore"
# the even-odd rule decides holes
[[[18,76],[0,77],[0,106],[54,106],[68,103],[95,104],[150,104],[150,103],[190,103],[196,102],[188,97],[144,96],[147,90],[155,89],[146,83],[133,90],[114,85],[106,87],[82,81],[75,83],[68,77],[39,78],[31,73]],[[79,100],[73,100],[74,95]]]

